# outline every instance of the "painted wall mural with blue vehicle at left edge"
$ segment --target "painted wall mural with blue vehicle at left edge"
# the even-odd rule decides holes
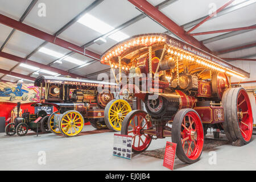
[[[39,89],[34,84],[0,82],[0,102],[39,102]]]

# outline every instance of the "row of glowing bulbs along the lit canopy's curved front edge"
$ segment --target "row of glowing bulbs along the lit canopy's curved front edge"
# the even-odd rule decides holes
[[[144,36],[142,38],[137,38],[130,40],[129,42],[125,42],[121,44],[118,48],[109,51],[107,55],[105,55],[102,59],[107,61],[111,59],[113,56],[119,56],[123,51],[132,46],[150,46],[155,42],[165,42],[166,40],[162,36]]]

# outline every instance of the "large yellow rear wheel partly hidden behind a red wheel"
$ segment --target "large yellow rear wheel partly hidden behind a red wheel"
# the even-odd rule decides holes
[[[104,111],[105,123],[110,130],[121,131],[123,119],[130,113],[131,106],[125,100],[110,101]]]

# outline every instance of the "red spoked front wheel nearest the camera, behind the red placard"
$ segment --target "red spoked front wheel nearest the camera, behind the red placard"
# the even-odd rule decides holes
[[[172,123],[172,142],[177,143],[177,157],[185,163],[200,159],[204,146],[204,128],[193,109],[179,110]]]

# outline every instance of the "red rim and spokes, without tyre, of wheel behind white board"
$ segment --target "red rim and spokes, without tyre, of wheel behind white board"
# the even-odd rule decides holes
[[[135,151],[143,151],[151,142],[151,136],[143,130],[150,129],[151,121],[147,121],[146,113],[134,114],[130,119],[127,134],[132,136],[132,147]]]

